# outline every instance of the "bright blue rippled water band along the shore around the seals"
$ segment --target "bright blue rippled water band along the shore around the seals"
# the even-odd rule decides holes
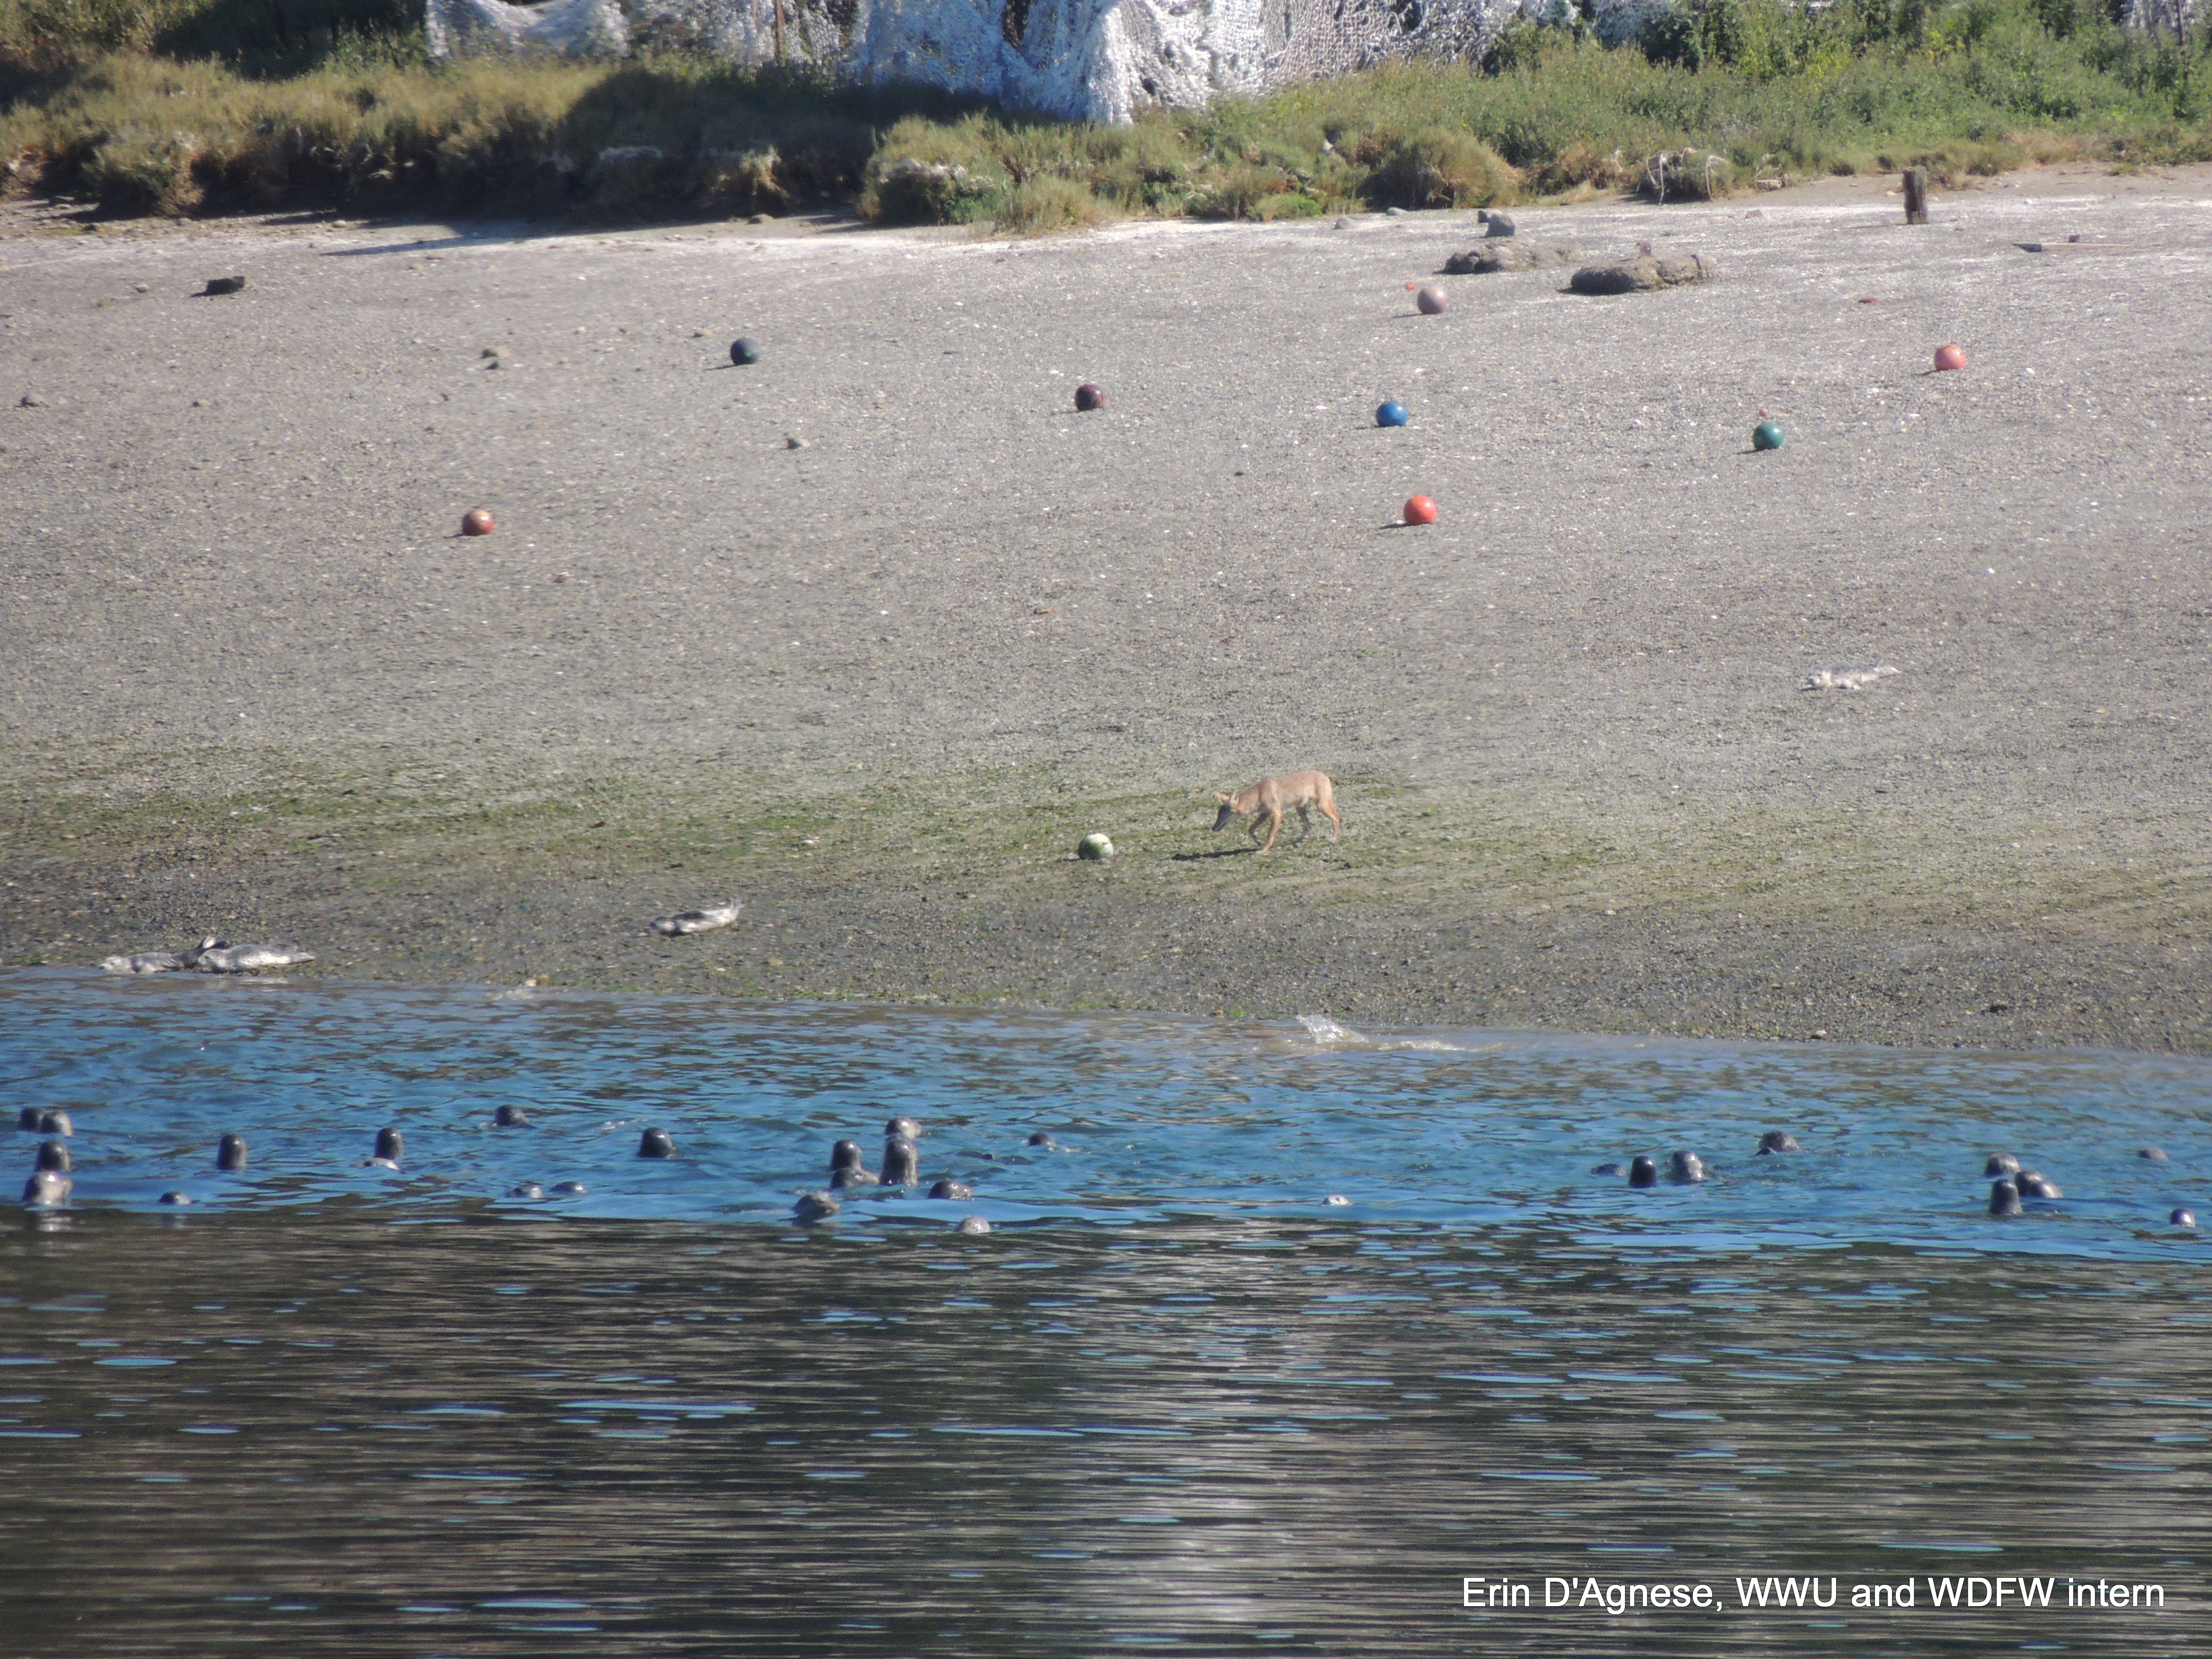
[[[925,1124],[925,1181],[969,1181],[962,1214],[993,1223],[1294,1214],[1334,1194],[1376,1219],[1694,1248],[2161,1256],[2197,1248],[2168,1212],[2212,1197],[2208,1060],[1310,1026],[33,971],[0,978],[0,1104],[71,1113],[77,1206],[520,1208],[522,1181],[582,1181],[531,1208],[781,1225],[834,1139],[876,1164],[894,1110]],[[531,1128],[495,1130],[500,1104]],[[405,1135],[398,1170],[363,1168],[383,1126]],[[635,1157],[646,1126],[679,1157]],[[1805,1150],[1754,1157],[1767,1128]],[[217,1175],[232,1130],[250,1168]],[[1035,1130],[1057,1150],[1026,1146]],[[2163,1164],[2139,1157],[2152,1146]],[[1630,1192],[1593,1175],[1674,1148],[1714,1179]],[[1989,1221],[2000,1150],[2066,1197]],[[838,1225],[947,1219],[876,1194]]]

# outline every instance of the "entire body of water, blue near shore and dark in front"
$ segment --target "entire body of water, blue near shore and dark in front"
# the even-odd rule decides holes
[[[7,1659],[2212,1650],[2201,1060],[33,971],[0,1086]],[[794,1225],[894,1110],[975,1199]]]

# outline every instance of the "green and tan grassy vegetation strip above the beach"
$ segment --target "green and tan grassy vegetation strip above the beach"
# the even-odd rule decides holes
[[[1697,0],[1617,49],[1515,22],[1482,64],[1113,128],[684,53],[438,64],[396,0],[0,0],[7,177],[113,215],[852,204],[1037,234],[2077,157],[2212,157],[2212,29],[2128,31],[2101,0]]]

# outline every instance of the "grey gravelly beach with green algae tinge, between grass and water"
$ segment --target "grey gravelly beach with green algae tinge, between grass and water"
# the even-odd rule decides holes
[[[2212,173],[1885,184],[1522,210],[1723,279],[1442,319],[1473,215],[18,212],[0,958],[2205,1048]],[[1301,765],[1343,845],[1208,834]]]

